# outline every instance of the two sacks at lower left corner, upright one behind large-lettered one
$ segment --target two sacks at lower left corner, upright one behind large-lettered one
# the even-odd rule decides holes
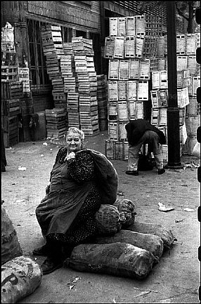
[[[41,267],[22,256],[13,223],[1,205],[1,303],[17,303],[30,295],[41,284],[41,278]]]

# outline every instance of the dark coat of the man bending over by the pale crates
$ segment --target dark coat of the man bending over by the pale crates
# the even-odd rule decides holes
[[[131,120],[128,124],[126,124],[125,128],[127,130],[127,138],[129,145],[136,145],[145,133],[145,131],[148,130],[154,131],[158,134],[160,138],[159,143],[161,145],[164,145],[166,143],[164,133],[152,124],[150,124],[148,121],[145,121],[145,119]]]

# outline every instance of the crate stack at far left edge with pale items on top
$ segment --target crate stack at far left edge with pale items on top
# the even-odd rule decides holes
[[[8,41],[8,37],[11,37],[11,41]],[[5,147],[19,142],[20,98],[22,82],[18,77],[13,27],[7,22],[1,31],[1,126],[4,128]]]

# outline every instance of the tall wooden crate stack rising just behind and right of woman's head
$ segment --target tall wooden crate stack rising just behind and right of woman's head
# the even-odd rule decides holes
[[[91,39],[72,38],[74,66],[79,93],[79,125],[86,136],[95,136],[99,130],[97,75],[93,61]]]

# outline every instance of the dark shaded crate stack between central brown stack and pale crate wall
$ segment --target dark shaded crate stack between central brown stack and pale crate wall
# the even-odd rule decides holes
[[[104,74],[97,75],[97,98],[100,131],[108,130],[108,82]]]

